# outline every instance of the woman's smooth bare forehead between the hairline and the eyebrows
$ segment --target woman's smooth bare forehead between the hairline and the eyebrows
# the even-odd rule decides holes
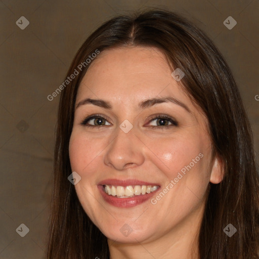
[[[127,99],[141,101],[144,98],[171,95],[190,101],[171,72],[165,56],[156,48],[105,50],[91,63],[83,77],[77,100],[91,95],[126,102]]]

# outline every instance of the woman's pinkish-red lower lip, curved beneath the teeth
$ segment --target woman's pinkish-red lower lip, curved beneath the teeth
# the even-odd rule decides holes
[[[117,198],[116,196],[108,195],[104,190],[102,185],[98,185],[98,189],[100,190],[104,200],[109,204],[115,207],[134,207],[137,206],[147,200],[149,200],[158,190],[155,190],[151,193],[136,195],[132,198]]]

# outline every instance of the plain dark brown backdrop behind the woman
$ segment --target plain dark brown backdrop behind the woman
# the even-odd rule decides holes
[[[77,49],[102,22],[149,7],[177,11],[203,29],[227,59],[239,84],[259,151],[258,0],[90,0],[0,2],[0,258],[46,257],[54,130],[63,82]],[[29,25],[20,29],[24,16]],[[232,16],[229,30],[223,21]],[[25,237],[16,229],[29,228]]]

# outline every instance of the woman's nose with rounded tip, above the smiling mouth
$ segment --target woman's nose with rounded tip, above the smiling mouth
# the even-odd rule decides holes
[[[143,164],[143,143],[135,136],[134,131],[124,133],[120,128],[117,137],[108,146],[104,163],[116,170],[136,167]]]

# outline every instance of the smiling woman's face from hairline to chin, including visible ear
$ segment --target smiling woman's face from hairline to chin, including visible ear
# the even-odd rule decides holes
[[[69,144],[82,207],[117,242],[194,233],[209,181],[221,181],[206,117],[155,48],[116,48],[92,62]]]

